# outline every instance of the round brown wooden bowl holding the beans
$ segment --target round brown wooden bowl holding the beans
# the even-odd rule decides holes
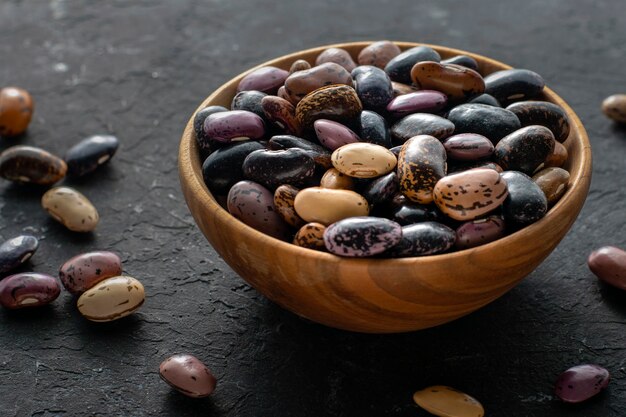
[[[348,50],[356,62],[359,51],[369,43],[313,48],[260,66],[288,70],[296,59],[314,63],[316,56],[331,46]],[[397,45],[403,50],[418,46],[405,42]],[[427,46],[442,59],[458,54],[472,56],[483,74],[510,68],[458,49]],[[208,105],[229,107],[237,84],[248,72],[218,88],[198,110]],[[205,186],[193,115],[179,150],[183,193],[215,250],[250,285],[282,307],[315,322],[357,332],[394,333],[436,326],[471,313],[513,288],[556,247],[583,206],[591,180],[587,133],[559,96],[547,88],[544,95],[545,100],[563,107],[570,118],[571,133],[564,143],[569,152],[565,168],[571,175],[568,190],[540,221],[476,248],[416,258],[354,259],[264,235],[232,217]]]

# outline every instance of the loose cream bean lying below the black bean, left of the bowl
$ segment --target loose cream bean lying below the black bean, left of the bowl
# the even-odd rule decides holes
[[[90,232],[96,228],[98,210],[83,194],[69,187],[55,187],[41,198],[43,208],[73,232]]]

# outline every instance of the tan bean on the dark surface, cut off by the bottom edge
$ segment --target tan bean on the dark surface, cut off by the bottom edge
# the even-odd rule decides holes
[[[441,417],[483,417],[485,409],[473,397],[454,388],[436,385],[413,394],[413,401]]]

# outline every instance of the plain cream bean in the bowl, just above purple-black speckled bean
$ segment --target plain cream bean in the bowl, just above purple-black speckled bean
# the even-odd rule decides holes
[[[321,187],[301,190],[296,196],[294,207],[304,221],[318,222],[325,226],[348,217],[369,214],[367,200],[360,194]]]

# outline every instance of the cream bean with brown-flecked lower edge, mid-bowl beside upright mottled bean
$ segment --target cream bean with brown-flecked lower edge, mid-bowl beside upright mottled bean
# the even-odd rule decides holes
[[[336,149],[331,162],[339,172],[351,177],[376,178],[393,171],[398,160],[384,146],[357,142]]]

